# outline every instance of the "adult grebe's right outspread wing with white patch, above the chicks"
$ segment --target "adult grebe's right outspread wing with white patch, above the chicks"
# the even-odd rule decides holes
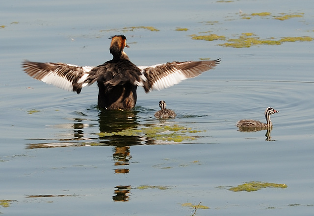
[[[196,77],[214,68],[220,59],[213,61],[186,61],[158,64],[154,66],[139,66],[141,70],[140,86],[145,92],[161,90],[180,83],[184,79]]]

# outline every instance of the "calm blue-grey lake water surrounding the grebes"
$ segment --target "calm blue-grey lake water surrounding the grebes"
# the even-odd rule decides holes
[[[313,10],[310,0],[2,2],[0,213],[191,216],[185,205],[201,202],[196,216],[312,216],[314,42],[220,44],[314,38]],[[98,110],[95,84],[77,95],[22,71],[24,59],[97,66],[115,34],[136,65],[221,63],[162,91],[138,89],[128,112]],[[210,34],[225,39],[192,39]],[[177,118],[154,118],[161,99]],[[237,120],[265,121],[269,106],[280,112],[268,137],[238,131]],[[228,190],[251,181],[288,187]]]

